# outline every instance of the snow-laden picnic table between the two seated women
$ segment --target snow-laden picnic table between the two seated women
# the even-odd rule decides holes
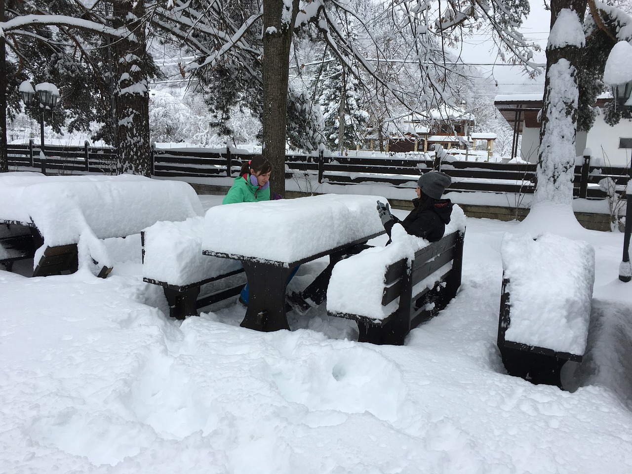
[[[296,265],[337,255],[384,233],[375,202],[384,198],[320,195],[212,207],[204,219],[205,255],[241,260],[250,300],[242,327],[289,329],[288,277]]]

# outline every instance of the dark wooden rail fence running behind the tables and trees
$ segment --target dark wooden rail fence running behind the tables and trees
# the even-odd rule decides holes
[[[46,158],[40,157],[40,147],[29,145],[7,147],[9,166],[56,170],[59,174],[116,173],[116,150],[112,148],[47,146]],[[253,154],[231,149],[155,149],[152,148],[152,174],[160,177],[212,178],[237,176],[241,162]],[[450,191],[487,191],[495,193],[529,194],[535,190],[535,164],[509,164],[461,161],[443,154],[434,159],[419,153],[401,157],[322,157],[291,154],[286,156],[286,177],[303,176],[318,179],[319,183],[359,184],[388,183],[399,187],[415,187],[425,171],[441,169],[453,179]],[[617,192],[622,193],[628,183],[628,168],[604,167],[590,164],[575,166],[573,194],[575,197],[603,199],[607,193],[599,181],[611,178]]]

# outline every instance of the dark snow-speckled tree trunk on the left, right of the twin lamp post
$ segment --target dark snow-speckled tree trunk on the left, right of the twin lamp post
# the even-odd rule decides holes
[[[115,1],[112,26],[130,37],[114,42],[117,172],[151,175],[149,89],[143,2]]]

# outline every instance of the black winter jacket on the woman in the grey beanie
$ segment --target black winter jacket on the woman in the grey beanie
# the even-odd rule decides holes
[[[411,210],[406,219],[400,221],[392,216],[391,221],[384,224],[386,233],[391,236],[392,226],[401,224],[406,232],[417,237],[423,237],[430,242],[441,240],[446,231],[446,224],[450,222],[453,204],[449,199],[435,199],[429,209],[419,210],[419,200],[413,199],[415,209]]]

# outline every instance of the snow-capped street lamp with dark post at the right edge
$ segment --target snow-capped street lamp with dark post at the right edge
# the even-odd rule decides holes
[[[632,45],[619,41],[605,62],[604,82],[612,86],[612,95],[619,107],[632,107]],[[619,265],[619,280],[632,280],[629,258],[630,234],[632,233],[632,157],[630,158],[629,181],[626,188],[626,228],[623,237],[623,260]]]

